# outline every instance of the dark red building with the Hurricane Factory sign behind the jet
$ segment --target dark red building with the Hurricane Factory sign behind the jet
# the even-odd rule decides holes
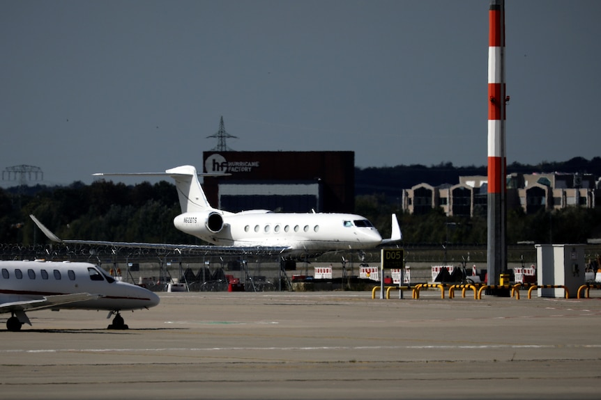
[[[354,212],[354,152],[204,152],[204,190],[227,211]]]

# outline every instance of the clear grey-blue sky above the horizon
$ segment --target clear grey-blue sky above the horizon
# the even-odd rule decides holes
[[[487,163],[487,0],[0,3],[0,170],[44,183],[240,151]],[[508,163],[601,155],[601,2],[507,0]],[[6,186],[3,184],[3,186]]]

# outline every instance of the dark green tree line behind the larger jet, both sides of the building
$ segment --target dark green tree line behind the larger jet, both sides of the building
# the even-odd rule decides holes
[[[541,163],[536,170],[571,172],[569,168],[579,168],[575,172],[586,170],[601,175],[601,158],[585,161],[577,158],[565,163],[547,163],[545,168]],[[513,164],[513,168],[517,167],[517,164]],[[533,171],[533,166],[520,168]],[[545,171],[546,168],[550,169]],[[455,168],[449,163],[429,168],[412,166],[413,171],[420,169],[428,171],[432,179],[428,180],[428,175],[418,175],[411,178],[416,183],[404,184],[402,182],[405,180],[395,180],[398,171],[405,170],[404,166],[367,168],[368,171],[357,168],[356,186],[359,187],[356,190],[356,214],[369,218],[383,237],[390,235],[390,214],[397,214],[405,243],[485,245],[486,217],[446,216],[441,209],[432,209],[425,215],[404,214],[395,190],[406,189],[420,182],[432,184],[434,176],[450,174],[450,171],[454,171],[452,175],[441,175],[443,177],[439,179],[444,180],[442,183],[459,182],[460,175],[486,175],[486,170],[476,167]],[[370,190],[360,184],[363,179],[370,182]],[[395,190],[389,190],[390,187]],[[0,189],[0,243],[21,243],[24,246],[47,243],[29,214],[36,215],[63,239],[201,243],[199,239],[175,229],[173,218],[180,213],[175,185],[167,181],[127,186],[98,180],[89,185],[74,182],[69,186],[36,185]],[[507,214],[507,235],[509,244],[520,241],[586,243],[589,238],[601,237],[601,207],[568,207],[552,212],[541,210],[531,215],[524,214],[521,208],[511,209]]]

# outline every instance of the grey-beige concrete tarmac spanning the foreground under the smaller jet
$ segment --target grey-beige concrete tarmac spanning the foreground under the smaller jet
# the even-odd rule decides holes
[[[598,292],[160,293],[123,313],[128,330],[106,330],[106,312],[31,312],[0,331],[0,397],[600,399]]]

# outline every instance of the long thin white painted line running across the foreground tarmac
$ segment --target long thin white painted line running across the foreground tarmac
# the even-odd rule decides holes
[[[448,350],[448,349],[601,349],[601,344],[464,344],[420,346],[286,346],[286,347],[162,347],[144,349],[6,349],[0,353],[112,353],[112,352],[164,352],[164,351],[310,351],[310,350]]]

